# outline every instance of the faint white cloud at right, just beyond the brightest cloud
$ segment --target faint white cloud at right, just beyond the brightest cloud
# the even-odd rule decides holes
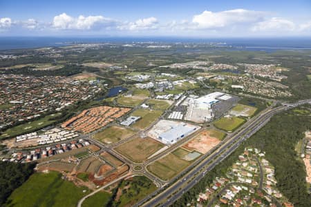
[[[272,17],[265,21],[256,23],[252,28],[254,32],[280,32],[280,31],[293,31],[295,30],[295,24],[288,19],[282,19],[279,17]]]

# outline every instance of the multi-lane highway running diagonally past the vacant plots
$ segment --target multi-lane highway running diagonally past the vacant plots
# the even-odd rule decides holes
[[[175,182],[166,190],[163,190],[162,193],[159,189],[158,192],[149,195],[149,197],[144,198],[142,201],[138,202],[136,206],[169,206],[173,204],[176,199],[182,196],[187,190],[192,188],[202,177],[205,176],[205,173],[209,172],[209,170],[213,169],[220,161],[223,161],[228,155],[230,155],[238,146],[247,138],[252,136],[256,131],[258,131],[261,127],[263,127],[270,118],[276,114],[276,112],[280,112],[282,110],[287,110],[291,106],[298,106],[303,103],[310,103],[309,100],[298,101],[292,104],[284,104],[283,106],[279,106],[276,108],[272,108],[262,113],[258,117],[256,117],[252,122],[239,131],[236,135],[234,135],[231,139],[229,139],[223,146],[221,146],[218,150],[209,155],[206,159],[200,162],[197,166],[194,167],[185,177],[182,177],[180,181]],[[153,197],[157,193],[160,193],[158,196]],[[149,200],[150,199],[150,200]],[[149,200],[149,201],[148,201]],[[146,202],[148,201],[148,202]]]

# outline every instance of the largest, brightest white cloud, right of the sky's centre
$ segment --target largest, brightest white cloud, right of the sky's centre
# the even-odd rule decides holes
[[[192,23],[200,29],[224,28],[243,23],[254,23],[263,20],[265,12],[236,9],[222,12],[205,10],[202,14],[194,15]]]

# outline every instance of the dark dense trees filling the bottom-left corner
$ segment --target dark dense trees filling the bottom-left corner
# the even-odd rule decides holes
[[[33,172],[35,164],[17,164],[9,161],[0,161],[0,206],[10,194],[21,186]]]

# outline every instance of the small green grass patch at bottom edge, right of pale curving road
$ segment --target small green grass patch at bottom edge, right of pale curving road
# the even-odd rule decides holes
[[[106,206],[111,199],[111,193],[100,191],[95,193],[91,197],[85,199],[82,203],[82,207],[102,207]]]

